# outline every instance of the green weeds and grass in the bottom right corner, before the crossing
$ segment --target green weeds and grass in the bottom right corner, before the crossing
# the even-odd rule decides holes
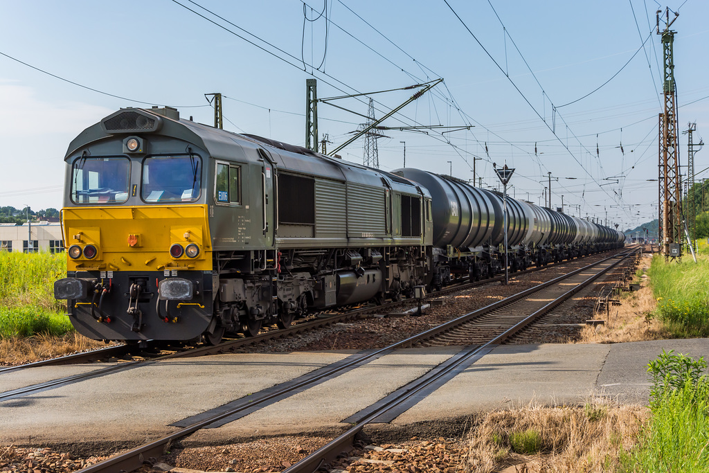
[[[709,472],[709,379],[702,358],[663,352],[651,362],[650,419],[625,472]]]

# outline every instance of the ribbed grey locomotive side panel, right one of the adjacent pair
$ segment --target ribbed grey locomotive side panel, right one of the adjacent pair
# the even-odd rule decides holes
[[[347,236],[384,238],[386,236],[384,189],[347,183]]]

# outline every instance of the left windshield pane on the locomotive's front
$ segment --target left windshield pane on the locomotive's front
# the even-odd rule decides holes
[[[79,157],[72,165],[74,204],[122,204],[128,200],[130,160]]]

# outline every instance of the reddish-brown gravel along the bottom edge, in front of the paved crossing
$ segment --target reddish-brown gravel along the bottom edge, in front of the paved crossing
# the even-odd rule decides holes
[[[281,437],[218,447],[176,448],[138,472],[281,472],[329,440],[320,437]],[[0,452],[0,472],[69,473],[104,458],[77,458],[49,448],[5,447]],[[359,443],[354,450],[342,452],[324,471],[453,473],[459,471],[458,465],[463,458],[464,446],[460,440],[443,437],[420,439],[414,436],[402,443]]]

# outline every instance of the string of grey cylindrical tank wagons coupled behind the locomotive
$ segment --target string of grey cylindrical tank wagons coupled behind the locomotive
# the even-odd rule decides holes
[[[514,272],[622,246],[625,240],[618,230],[508,196],[504,248],[502,194],[420,169],[394,172],[419,182],[431,194],[433,287],[461,274],[481,279],[501,272],[505,252]]]

